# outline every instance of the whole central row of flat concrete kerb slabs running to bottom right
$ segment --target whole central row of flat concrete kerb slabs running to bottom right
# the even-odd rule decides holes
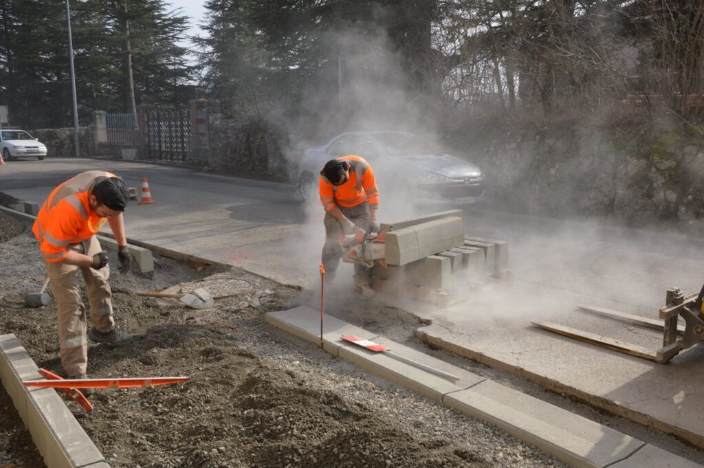
[[[320,332],[320,312],[312,308],[303,306],[281,312],[269,312],[267,320],[277,327],[295,329],[296,335],[306,341],[319,342],[317,334]],[[327,320],[332,320],[332,317],[326,317]],[[344,344],[346,343],[344,341],[340,342],[341,346],[328,346],[326,348],[328,352],[350,360],[369,372],[406,386],[429,398],[438,400],[438,396],[441,396],[439,401],[445,405],[453,407],[465,415],[490,422],[575,467],[693,468],[698,466],[665,450],[649,448],[643,441],[607,426],[574,415],[560,407],[524,395],[489,379],[475,376],[471,372],[436,360],[383,336],[375,337],[370,332],[358,329],[341,320],[335,319],[333,323],[334,327],[340,331],[346,330],[346,326],[361,330],[355,334],[389,346],[393,352],[404,358],[413,359],[422,362],[422,364],[437,367],[444,372],[455,374],[460,377],[459,386],[464,388],[453,388],[456,384],[452,384],[451,381],[399,362],[384,353],[374,353],[359,346]],[[318,331],[314,331],[316,327]],[[325,329],[327,330],[327,327]],[[326,343],[332,344],[333,341],[339,341],[339,336],[342,333],[347,332],[325,332]],[[332,334],[332,336],[327,336],[327,334]],[[642,450],[646,450],[646,452],[641,453]],[[648,460],[647,462],[641,460],[641,457],[649,455],[656,457],[654,460],[658,460],[657,465],[650,464],[650,459],[647,458],[645,459]]]

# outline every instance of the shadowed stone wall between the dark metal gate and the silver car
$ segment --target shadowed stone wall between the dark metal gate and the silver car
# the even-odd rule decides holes
[[[287,137],[270,122],[211,115],[208,137],[208,170],[282,181],[295,172],[287,163]]]

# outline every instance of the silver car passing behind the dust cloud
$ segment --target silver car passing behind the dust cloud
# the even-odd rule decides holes
[[[322,167],[328,160],[348,154],[370,162],[382,192],[438,205],[463,205],[484,198],[484,177],[479,167],[438,153],[419,137],[404,132],[348,132],[325,146],[306,150],[298,163],[301,196],[306,200],[316,198]]]

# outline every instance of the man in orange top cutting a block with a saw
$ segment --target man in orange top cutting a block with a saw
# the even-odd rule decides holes
[[[340,263],[341,233],[354,234],[356,227],[379,232],[377,209],[379,190],[372,166],[360,156],[341,156],[329,160],[320,171],[320,202],[325,207],[325,246],[322,265],[332,280]],[[354,283],[365,298],[375,296],[370,285],[370,268],[354,265]]]

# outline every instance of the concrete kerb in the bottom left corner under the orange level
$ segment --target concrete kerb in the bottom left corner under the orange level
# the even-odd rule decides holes
[[[0,378],[47,467],[109,468],[100,450],[54,389],[30,391],[22,384],[23,380],[42,376],[13,334],[0,336]]]

